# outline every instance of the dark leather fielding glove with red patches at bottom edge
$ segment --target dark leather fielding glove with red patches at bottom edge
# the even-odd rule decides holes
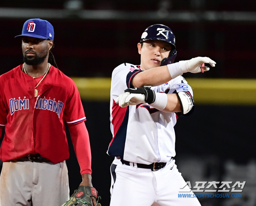
[[[78,190],[75,190],[70,199],[62,206],[93,206],[91,196],[96,199],[96,205],[101,206],[98,203],[100,197],[98,196],[97,190],[89,186],[79,186]]]

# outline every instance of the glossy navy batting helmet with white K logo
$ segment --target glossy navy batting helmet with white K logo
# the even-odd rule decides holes
[[[175,36],[169,27],[164,26],[163,24],[154,24],[146,28],[146,30],[141,35],[140,43],[147,40],[160,40],[170,43],[172,49],[169,53],[169,57],[173,56],[174,58],[172,59],[174,61],[177,55],[177,51],[175,50]]]

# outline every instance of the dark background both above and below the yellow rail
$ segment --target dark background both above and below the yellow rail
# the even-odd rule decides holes
[[[184,77],[256,78],[256,1],[236,0],[87,0],[71,1],[1,0],[0,2],[0,74],[22,63],[20,39],[27,16],[37,9],[59,9],[52,16],[31,18],[49,20],[55,30],[53,54],[60,70],[68,76],[111,77],[112,70],[122,64],[140,64],[137,43],[146,27],[160,23],[169,26],[176,37],[177,58],[188,60],[208,56],[216,68],[204,74]],[[71,6],[70,6],[71,5]],[[78,5],[71,9],[72,5]],[[18,9],[21,15],[4,16],[1,9]],[[26,10],[22,10],[26,9]],[[16,10],[15,10],[16,11]],[[66,12],[63,18],[55,13]],[[123,17],[81,18],[82,11],[122,13]],[[150,18],[150,12],[165,14]],[[172,14],[188,12],[196,18],[168,19]],[[219,12],[216,20],[204,18],[204,12]],[[225,13],[226,12],[226,13]],[[225,15],[240,14],[227,19]],[[44,13],[44,12],[43,12]],[[49,12],[51,14],[51,12]],[[24,14],[24,17],[22,17]],[[34,14],[34,13],[33,13]],[[39,15],[40,14],[40,15]],[[118,13],[120,14],[120,13]],[[130,19],[125,16],[129,16]],[[142,14],[141,18],[140,15]],[[152,13],[152,16],[155,13]],[[45,12],[46,15],[46,12]],[[145,18],[149,16],[149,18]],[[244,20],[239,17],[245,16]],[[237,20],[236,20],[237,18]],[[111,141],[109,102],[83,101],[92,149],[93,186],[102,197],[102,205],[110,202],[110,165],[106,154]],[[242,198],[199,198],[202,206],[255,206],[256,153],[254,106],[196,105],[194,114],[178,119],[175,128],[176,164],[186,181],[246,181]],[[70,193],[81,182],[79,165],[70,144],[67,160]],[[132,198],[132,197],[131,197]]]

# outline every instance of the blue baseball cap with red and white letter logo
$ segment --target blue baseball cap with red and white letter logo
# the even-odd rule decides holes
[[[22,34],[16,37],[34,37],[53,40],[54,30],[52,24],[47,20],[29,19],[23,25]]]

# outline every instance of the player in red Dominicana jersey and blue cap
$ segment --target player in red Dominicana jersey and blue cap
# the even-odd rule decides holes
[[[84,109],[75,83],[57,69],[51,23],[29,19],[17,37],[24,64],[0,76],[0,205],[60,206],[69,199],[65,123],[81,168],[80,186],[92,187]]]

